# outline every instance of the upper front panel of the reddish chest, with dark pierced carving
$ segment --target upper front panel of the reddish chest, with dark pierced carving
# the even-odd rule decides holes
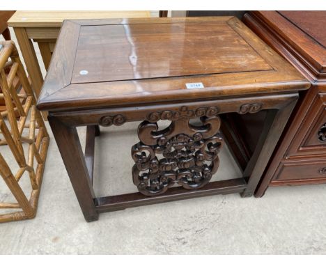
[[[306,112],[287,156],[326,154],[326,94],[318,93]]]

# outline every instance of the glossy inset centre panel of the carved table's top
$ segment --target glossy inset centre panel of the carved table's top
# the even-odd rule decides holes
[[[263,70],[272,68],[226,23],[81,26],[71,82]]]

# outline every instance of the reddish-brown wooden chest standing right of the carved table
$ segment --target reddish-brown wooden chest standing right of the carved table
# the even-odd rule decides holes
[[[253,11],[244,22],[309,81],[256,196],[268,185],[326,182],[326,12]]]

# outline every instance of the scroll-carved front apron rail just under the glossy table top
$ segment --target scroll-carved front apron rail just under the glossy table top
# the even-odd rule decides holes
[[[196,111],[198,108],[218,107],[219,114],[240,112],[240,107],[247,103],[262,103],[262,110],[282,109],[284,104],[291,101],[293,93],[281,93],[277,95],[256,95],[251,97],[216,97],[214,100],[197,100],[192,102],[165,103],[134,107],[108,107],[105,109],[68,110],[53,112],[52,116],[63,123],[75,127],[81,125],[123,125],[123,123],[148,120],[148,114],[153,112],[179,111],[182,107]],[[123,115],[123,119],[121,118]],[[114,119],[116,118],[116,119]],[[114,122],[114,120],[116,120]],[[117,121],[118,120],[118,121]],[[120,123],[119,123],[120,122]]]

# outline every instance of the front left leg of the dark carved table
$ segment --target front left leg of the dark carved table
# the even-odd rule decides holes
[[[49,116],[49,124],[86,221],[98,220],[94,203],[95,194],[76,127],[65,125],[52,116]]]

